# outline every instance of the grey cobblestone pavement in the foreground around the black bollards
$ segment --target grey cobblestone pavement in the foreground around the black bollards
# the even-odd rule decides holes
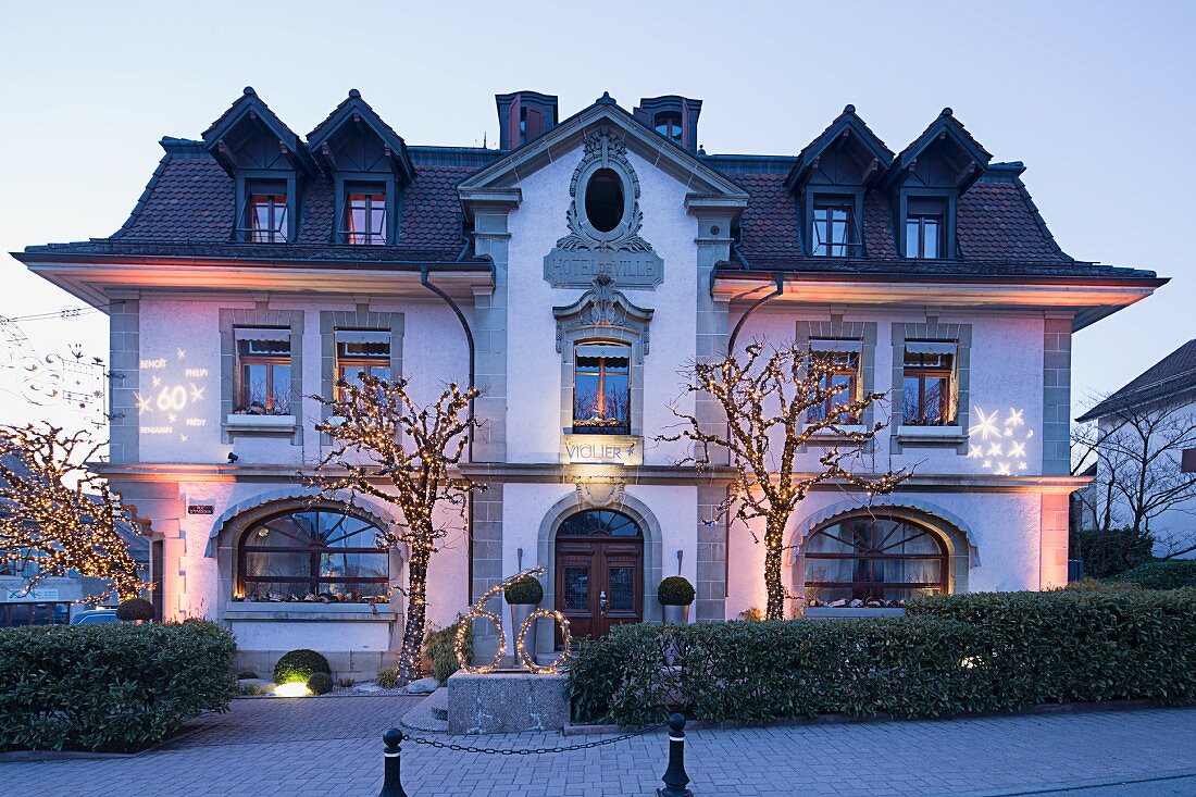
[[[139,756],[0,763],[0,795],[374,797],[382,786],[380,732],[416,700],[237,700],[230,714],[201,718],[188,726],[194,734]],[[1196,773],[1196,708],[694,730],[688,736],[687,768],[697,797],[1049,793],[1042,787],[1064,781],[1069,797],[1196,795],[1194,777],[1090,785]],[[597,737],[437,738],[524,748]],[[542,756],[404,742],[402,768],[411,797],[653,795],[665,756],[663,732]]]

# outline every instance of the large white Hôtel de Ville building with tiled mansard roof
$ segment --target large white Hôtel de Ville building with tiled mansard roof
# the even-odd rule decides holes
[[[371,671],[397,647],[404,556],[373,529],[402,518],[313,506],[299,479],[325,443],[310,396],[361,369],[484,390],[464,470],[489,488],[446,518],[435,622],[535,564],[581,634],[658,620],[678,572],[697,620],[763,607],[762,547],[712,519],[726,480],[655,439],[677,401],[718,422],[678,400],[687,364],[759,337],[891,394],[867,461],[916,464],[871,507],[808,497],[795,595],[1066,582],[1072,334],[1165,280],[1064,254],[1024,166],[950,109],[895,153],[848,105],[792,157],[704,152],[697,99],[563,121],[553,96],[496,99],[492,150],[409,146],[356,91],[300,136],[246,89],[163,139],[114,235],[16,255],[111,320],[100,470],[153,521],[165,616],[231,626],[256,667],[315,647]]]

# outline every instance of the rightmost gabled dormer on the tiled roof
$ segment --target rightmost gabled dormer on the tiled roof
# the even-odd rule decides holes
[[[897,254],[910,260],[962,255],[957,205],[993,158],[950,108],[902,150],[884,176],[892,205]]]

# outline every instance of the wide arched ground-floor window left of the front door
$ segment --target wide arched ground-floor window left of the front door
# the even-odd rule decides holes
[[[335,510],[285,512],[242,536],[237,600],[390,601],[390,564],[373,523]]]

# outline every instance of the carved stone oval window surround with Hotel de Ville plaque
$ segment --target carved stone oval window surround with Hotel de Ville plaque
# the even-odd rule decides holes
[[[599,170],[618,176],[623,212],[614,229],[603,231],[586,214],[586,189]],[[569,233],[544,257],[544,279],[553,287],[585,287],[606,274],[623,287],[655,287],[664,280],[664,261],[640,236],[640,178],[627,158],[627,142],[611,129],[586,136],[581,163],[569,181]]]

